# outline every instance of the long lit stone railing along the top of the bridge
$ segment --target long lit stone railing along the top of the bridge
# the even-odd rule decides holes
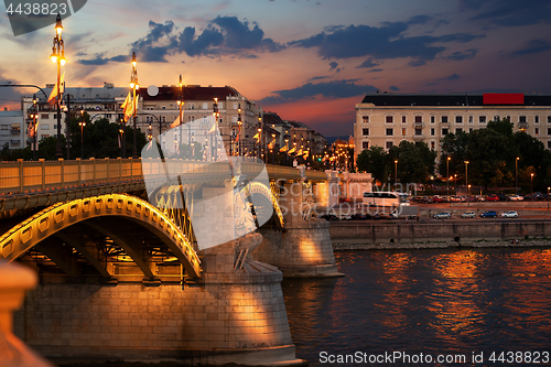
[[[142,164],[143,163],[143,164]],[[261,165],[242,163],[241,172],[257,176]],[[166,171],[165,171],[166,170]],[[290,166],[267,165],[270,180],[300,180],[300,171]],[[139,180],[143,175],[163,176],[166,172],[182,172],[183,177],[197,175],[198,179],[231,177],[229,164],[187,160],[169,160],[158,164],[153,160],[142,159],[89,159],[75,161],[23,161],[0,162],[0,195],[17,194],[25,191],[41,191],[101,184],[116,181]],[[325,172],[305,170],[312,181],[325,181]],[[208,181],[207,180],[207,181]]]

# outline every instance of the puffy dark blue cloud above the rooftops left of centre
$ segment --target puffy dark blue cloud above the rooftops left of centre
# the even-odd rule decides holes
[[[253,22],[240,21],[237,17],[217,17],[207,26],[197,32],[193,26],[186,26],[181,32],[172,21],[164,24],[149,22],[145,36],[130,44],[130,54],[136,52],[140,61],[166,63],[166,56],[185,53],[190,57],[237,55],[244,58],[255,58],[252,52],[278,52],[285,46],[264,37],[264,32]],[[119,55],[110,58],[96,55],[93,60],[79,60],[84,65],[104,65],[108,62],[127,61]]]

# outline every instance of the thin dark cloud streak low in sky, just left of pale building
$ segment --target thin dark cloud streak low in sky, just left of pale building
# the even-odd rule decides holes
[[[342,79],[322,83],[306,83],[293,89],[273,91],[274,96],[262,99],[261,104],[282,104],[289,101],[313,98],[321,95],[326,98],[347,98],[361,96],[366,93],[377,91],[378,88],[370,85],[357,85],[358,79]]]

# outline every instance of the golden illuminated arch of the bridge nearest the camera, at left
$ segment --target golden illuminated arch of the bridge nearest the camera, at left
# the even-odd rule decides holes
[[[108,216],[125,217],[147,228],[171,250],[190,277],[199,277],[201,261],[197,253],[176,225],[150,203],[125,194],[100,195],[58,203],[34,214],[0,237],[0,258],[9,261],[17,260],[29,250],[40,246],[42,241],[47,240],[48,237],[57,236],[65,228],[91,218]],[[108,234],[109,237],[117,237],[116,231],[104,231],[104,228],[99,226],[97,229]],[[127,252],[132,251],[129,247],[126,249]],[[149,273],[151,277],[147,265],[136,262],[145,274]]]

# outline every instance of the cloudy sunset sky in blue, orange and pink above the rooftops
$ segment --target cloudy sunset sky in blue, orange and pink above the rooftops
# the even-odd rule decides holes
[[[55,82],[53,26],[0,14],[0,85]],[[88,0],[64,20],[67,87],[229,85],[326,137],[367,93],[551,93],[551,0]],[[0,108],[21,94],[0,88]]]

